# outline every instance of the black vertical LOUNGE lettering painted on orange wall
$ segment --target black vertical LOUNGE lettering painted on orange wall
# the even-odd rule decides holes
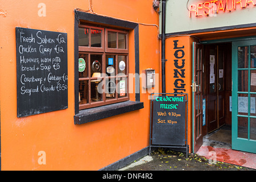
[[[179,40],[174,40],[174,93],[185,93],[185,52],[184,46],[178,46]]]

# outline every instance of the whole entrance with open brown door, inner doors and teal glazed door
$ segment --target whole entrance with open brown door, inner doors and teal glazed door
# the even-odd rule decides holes
[[[193,50],[193,152],[221,131],[233,150],[255,154],[256,39],[194,43]]]

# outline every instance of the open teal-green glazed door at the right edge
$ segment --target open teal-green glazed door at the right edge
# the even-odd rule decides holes
[[[232,43],[232,148],[256,153],[256,40]]]

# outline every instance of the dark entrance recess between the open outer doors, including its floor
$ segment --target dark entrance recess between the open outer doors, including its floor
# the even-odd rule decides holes
[[[204,45],[203,142],[232,148],[232,43]]]

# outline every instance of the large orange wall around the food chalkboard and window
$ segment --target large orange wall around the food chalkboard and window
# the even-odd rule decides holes
[[[90,1],[0,1],[0,99],[2,170],[98,170],[148,146],[150,101],[141,88],[144,109],[83,125],[74,125],[74,9],[89,10]],[[92,0],[92,10],[137,23],[158,24],[148,0]],[[46,16],[38,15],[39,3]],[[68,35],[68,109],[16,117],[15,27],[66,32]],[[131,31],[130,36],[133,36]],[[134,39],[129,40],[134,73]],[[140,73],[160,71],[158,28],[139,24]],[[130,94],[135,101],[135,94]],[[39,151],[46,164],[39,164]]]

